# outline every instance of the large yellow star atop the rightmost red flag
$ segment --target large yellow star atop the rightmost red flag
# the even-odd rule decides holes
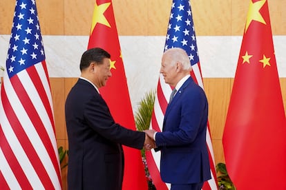
[[[260,8],[263,7],[265,2],[266,0],[256,1],[255,3],[250,1],[250,6],[247,14],[247,23],[245,25],[245,32],[247,32],[251,21],[258,21],[260,23],[266,24],[265,20],[263,19],[263,16],[259,12]]]

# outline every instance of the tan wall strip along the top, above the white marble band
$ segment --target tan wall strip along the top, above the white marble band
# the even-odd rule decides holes
[[[37,0],[43,35],[88,35],[94,0]],[[242,35],[249,0],[191,1],[198,36]],[[286,0],[269,1],[274,35],[286,34]],[[0,1],[0,34],[10,34],[15,1]],[[113,0],[119,35],[166,34],[171,0]]]

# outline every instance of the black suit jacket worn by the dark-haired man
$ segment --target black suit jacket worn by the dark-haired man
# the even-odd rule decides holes
[[[95,87],[81,78],[66,98],[68,189],[122,189],[122,145],[142,149],[145,134],[115,123]]]

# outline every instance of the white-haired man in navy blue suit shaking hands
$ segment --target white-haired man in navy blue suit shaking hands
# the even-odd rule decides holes
[[[162,132],[146,131],[161,151],[161,178],[171,183],[171,190],[202,189],[211,178],[206,142],[208,102],[204,90],[191,78],[191,69],[184,50],[164,52],[160,73],[176,92],[166,108]]]

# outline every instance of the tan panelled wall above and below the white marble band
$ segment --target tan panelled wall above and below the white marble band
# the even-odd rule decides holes
[[[95,0],[37,0],[42,35],[89,35]],[[242,35],[249,1],[191,1],[197,36]],[[274,35],[286,34],[286,0],[269,1]],[[0,1],[0,34],[10,34],[15,1]],[[165,36],[171,0],[113,0],[117,30],[121,36]],[[57,142],[68,149],[64,101],[77,78],[50,78],[55,111]],[[209,100],[209,124],[216,163],[225,162],[222,133],[233,78],[204,78]],[[280,78],[286,103],[286,78]],[[62,90],[64,89],[64,91]],[[66,169],[62,171],[66,189]]]

